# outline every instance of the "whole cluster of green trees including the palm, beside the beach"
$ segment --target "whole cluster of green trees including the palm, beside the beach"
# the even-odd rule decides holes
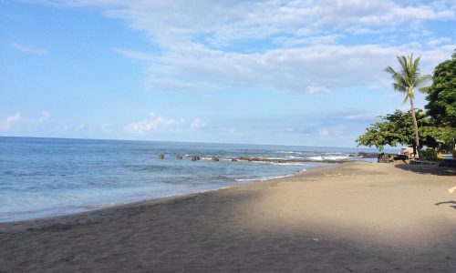
[[[420,75],[420,57],[398,57],[401,70],[385,69],[393,79],[393,87],[406,94],[404,103],[410,102],[407,112],[396,110],[379,116],[381,121],[371,124],[367,132],[358,137],[358,146],[414,147],[415,154],[421,147],[432,147],[442,152],[456,154],[456,51],[450,60],[436,66],[432,76]],[[430,86],[424,86],[432,80]],[[414,90],[426,93],[425,109],[413,106]]]

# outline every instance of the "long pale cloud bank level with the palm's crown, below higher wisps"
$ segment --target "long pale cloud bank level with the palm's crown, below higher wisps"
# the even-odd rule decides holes
[[[189,48],[190,46],[187,46]],[[152,68],[155,76],[192,77],[197,81],[156,79],[153,85],[165,90],[209,89],[210,82],[220,86],[261,86],[294,92],[327,92],[335,87],[372,85],[388,79],[386,66],[397,63],[395,56],[422,56],[422,72],[431,73],[433,67],[449,58],[452,45],[423,50],[420,45],[312,45],[301,48],[281,48],[264,53],[224,53],[194,46],[162,56],[166,65]],[[198,83],[204,83],[199,85]],[[151,88],[153,89],[153,88]]]

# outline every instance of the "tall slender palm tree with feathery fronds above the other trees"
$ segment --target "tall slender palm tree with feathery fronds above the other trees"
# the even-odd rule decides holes
[[[426,92],[429,86],[423,86],[423,84],[432,79],[430,75],[420,75],[420,56],[413,60],[413,54],[410,56],[396,56],[398,58],[401,71],[396,72],[391,66],[385,68],[385,72],[388,72],[393,79],[394,90],[405,93],[404,102],[407,100],[410,102],[411,118],[413,119],[413,126],[415,131],[415,143],[413,146],[413,154],[415,157],[418,155],[420,149],[420,138],[418,136],[418,124],[417,117],[415,116],[415,106],[413,105],[413,99],[415,94],[413,93],[415,88],[418,88],[420,92]]]

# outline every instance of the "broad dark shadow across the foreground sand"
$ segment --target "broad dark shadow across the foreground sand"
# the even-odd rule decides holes
[[[259,192],[219,191],[87,214],[93,218],[68,216],[64,228],[53,223],[64,217],[38,220],[41,227],[0,236],[0,271],[451,272],[456,266],[448,239],[454,224],[416,238],[416,246],[401,237],[380,243],[361,236],[364,225],[350,236],[325,221],[290,226],[258,217],[254,207],[263,199]]]

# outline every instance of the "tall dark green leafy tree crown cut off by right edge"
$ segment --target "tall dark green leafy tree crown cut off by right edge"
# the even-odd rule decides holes
[[[456,53],[436,66],[426,99],[428,115],[438,126],[456,127]]]

